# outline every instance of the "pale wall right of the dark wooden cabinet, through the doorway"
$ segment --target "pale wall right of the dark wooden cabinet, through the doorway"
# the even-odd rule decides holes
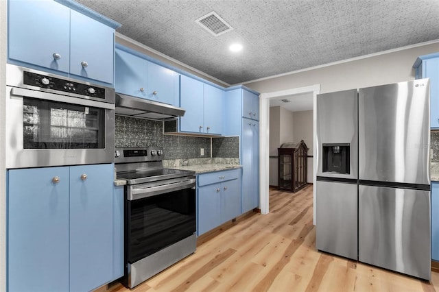
[[[308,156],[313,155],[313,111],[306,110],[302,112],[294,112],[293,120],[294,142],[305,141],[308,146]],[[313,158],[307,159],[307,182],[313,182]]]

